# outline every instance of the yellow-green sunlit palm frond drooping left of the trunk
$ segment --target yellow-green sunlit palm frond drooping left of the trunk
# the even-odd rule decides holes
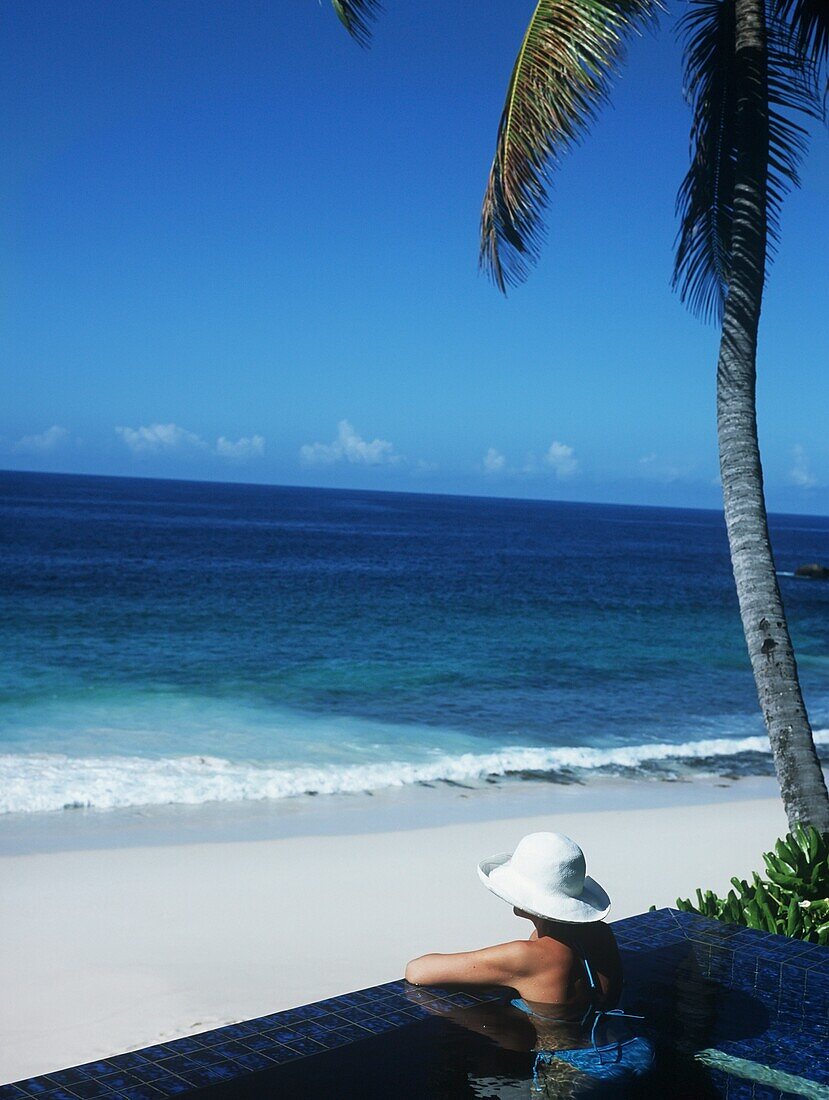
[[[626,34],[657,10],[659,0],[539,0],[507,88],[480,215],[480,266],[500,290],[527,277],[551,172],[606,99]]]

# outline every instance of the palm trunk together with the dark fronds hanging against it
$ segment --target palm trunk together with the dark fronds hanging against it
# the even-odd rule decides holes
[[[697,311],[721,319],[717,438],[743,631],[789,824],[827,833],[829,800],[769,540],[755,406],[769,241],[804,151],[792,116],[819,106],[816,66],[764,0],[697,0],[686,20],[695,155],[679,191],[674,282]]]

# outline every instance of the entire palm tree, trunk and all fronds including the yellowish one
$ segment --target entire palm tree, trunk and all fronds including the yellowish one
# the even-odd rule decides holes
[[[377,0],[332,0],[362,44]],[[660,0],[538,0],[498,127],[482,210],[480,264],[498,288],[522,282],[542,240],[551,170],[607,97],[629,34]],[[692,163],[677,199],[674,286],[721,326],[720,474],[731,562],[760,706],[789,823],[829,833],[815,749],[774,569],[756,431],[755,365],[770,248],[821,113],[828,0],[690,0],[681,21],[693,108]]]

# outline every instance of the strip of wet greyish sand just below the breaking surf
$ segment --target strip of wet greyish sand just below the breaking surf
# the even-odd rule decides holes
[[[695,806],[780,799],[771,776],[592,776],[586,782],[499,778],[438,781],[335,794],[0,815],[0,858],[58,851],[226,844],[398,832],[471,822],[603,810]]]

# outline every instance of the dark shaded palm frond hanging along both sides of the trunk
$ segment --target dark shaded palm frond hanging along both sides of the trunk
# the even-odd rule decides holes
[[[685,40],[685,92],[693,109],[690,167],[676,199],[679,230],[673,286],[693,312],[719,320],[731,270],[737,170],[738,100],[734,4],[692,0],[679,22]],[[795,118],[820,114],[815,66],[792,48],[791,34],[771,16],[767,42],[766,218],[770,254],[780,238],[786,194],[799,183],[806,130]]]

